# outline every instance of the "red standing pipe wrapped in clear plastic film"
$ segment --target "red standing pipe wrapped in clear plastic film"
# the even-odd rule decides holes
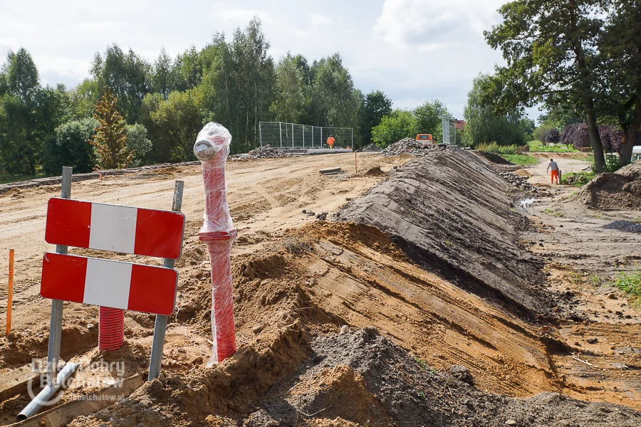
[[[194,154],[201,161],[204,179],[204,224],[199,239],[207,243],[212,263],[212,334],[214,344],[208,366],[222,362],[236,352],[234,299],[231,295],[231,244],[236,228],[229,215],[225,162],[229,155],[231,134],[218,123],[202,128],[194,144]]]

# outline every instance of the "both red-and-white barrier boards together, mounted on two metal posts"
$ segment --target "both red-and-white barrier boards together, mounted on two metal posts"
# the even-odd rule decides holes
[[[56,245],[178,258],[184,214],[49,200],[45,240]],[[173,268],[46,253],[40,294],[45,298],[157,315],[174,309],[178,275]]]

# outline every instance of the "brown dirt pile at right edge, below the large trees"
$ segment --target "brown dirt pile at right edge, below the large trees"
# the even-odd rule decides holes
[[[604,211],[641,209],[641,162],[629,164],[613,174],[595,176],[573,201]]]

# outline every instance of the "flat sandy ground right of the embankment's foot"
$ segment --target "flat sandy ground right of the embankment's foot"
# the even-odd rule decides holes
[[[564,171],[588,166],[575,159],[555,160]],[[615,220],[638,221],[641,211],[599,211],[576,203],[578,189],[551,185],[546,167],[543,159],[528,169],[533,174],[530,181],[552,196],[526,209],[536,226],[523,233],[523,239],[530,251],[546,259],[548,286],[558,295],[556,310],[572,313],[558,330],[574,357],[555,357],[555,362],[560,372],[573,376],[576,391],[605,399],[625,396],[638,406],[640,311],[612,282],[618,272],[638,268],[641,235],[603,226]]]

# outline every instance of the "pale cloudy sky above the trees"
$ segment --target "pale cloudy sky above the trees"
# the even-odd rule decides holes
[[[110,43],[153,61],[162,46],[172,56],[202,48],[214,32],[231,36],[259,16],[276,59],[340,52],[364,93],[382,90],[403,108],[438,98],[462,117],[472,79],[502,62],[482,31],[499,22],[505,1],[0,0],[0,53],[22,46],[42,83],[71,88]]]

